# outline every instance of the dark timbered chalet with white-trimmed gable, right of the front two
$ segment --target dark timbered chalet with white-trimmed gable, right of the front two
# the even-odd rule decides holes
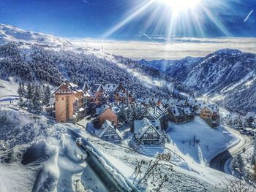
[[[160,145],[161,144],[161,123],[159,120],[142,120],[134,121],[135,139],[143,145]]]

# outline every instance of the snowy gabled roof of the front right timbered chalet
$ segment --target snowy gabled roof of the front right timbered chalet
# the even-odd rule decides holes
[[[159,120],[148,120],[147,118],[143,118],[143,120],[135,120],[134,121],[134,127],[135,127],[135,137],[137,139],[140,139],[143,137],[143,134],[148,131],[148,128],[152,127],[154,130],[161,136],[159,131],[157,130],[157,126],[160,129],[161,128],[161,123]]]

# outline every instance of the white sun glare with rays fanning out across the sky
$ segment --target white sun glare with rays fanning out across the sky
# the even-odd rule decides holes
[[[223,36],[232,37],[210,7],[223,8],[225,4],[219,1],[210,3],[210,0],[143,1],[127,13],[124,20],[106,31],[102,38],[110,37],[128,24],[129,28],[136,28],[137,23],[140,23],[138,34],[143,31],[151,37],[165,35],[166,42],[175,37],[207,37],[211,33],[208,26]]]

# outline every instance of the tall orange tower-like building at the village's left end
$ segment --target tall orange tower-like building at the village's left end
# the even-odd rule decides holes
[[[58,122],[75,121],[83,115],[83,91],[72,82],[63,82],[53,93]]]

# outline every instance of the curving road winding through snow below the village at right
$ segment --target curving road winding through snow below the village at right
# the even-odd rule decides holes
[[[237,145],[231,147],[229,150],[225,150],[219,155],[216,155],[214,158],[211,159],[210,167],[213,169],[217,169],[221,172],[225,172],[230,174],[229,170],[227,169],[227,163],[233,158],[234,155],[241,153],[244,148],[247,148],[252,145],[252,139],[245,135],[241,135],[238,131],[234,130],[233,128],[227,128],[228,131],[236,134],[240,139]]]

